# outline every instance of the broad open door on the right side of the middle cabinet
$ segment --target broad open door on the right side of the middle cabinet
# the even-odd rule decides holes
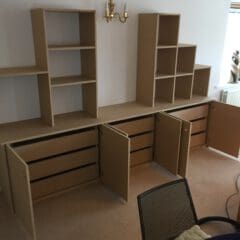
[[[182,121],[167,113],[156,117],[154,161],[171,173],[178,174]]]

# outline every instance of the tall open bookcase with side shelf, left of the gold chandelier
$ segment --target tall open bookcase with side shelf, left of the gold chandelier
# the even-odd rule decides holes
[[[79,117],[97,117],[95,11],[33,9],[31,19],[36,66],[0,68],[0,77],[36,75],[41,120],[50,126],[57,117],[53,91],[60,87],[79,89]]]

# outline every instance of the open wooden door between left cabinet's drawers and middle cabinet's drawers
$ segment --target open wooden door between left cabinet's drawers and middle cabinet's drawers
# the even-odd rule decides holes
[[[128,200],[130,139],[108,125],[100,127],[101,179],[112,191]]]

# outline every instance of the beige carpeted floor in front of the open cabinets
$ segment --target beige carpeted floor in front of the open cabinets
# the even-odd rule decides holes
[[[240,164],[201,148],[191,152],[189,183],[199,217],[225,215],[226,198],[235,191]],[[131,172],[130,199],[126,204],[100,183],[42,201],[35,206],[38,240],[140,240],[136,196],[153,186],[174,179],[158,165],[142,165]],[[236,218],[238,198],[230,202]],[[232,231],[227,226],[208,225],[206,231]],[[26,240],[20,225],[6,209],[0,195],[0,239]]]

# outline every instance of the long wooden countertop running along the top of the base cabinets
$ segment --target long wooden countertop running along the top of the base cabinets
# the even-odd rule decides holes
[[[169,111],[191,105],[194,106],[210,101],[212,101],[211,98],[194,96],[191,101],[187,99],[176,99],[174,104],[157,102],[155,107],[149,107],[138,102],[129,102],[99,108],[99,118],[91,117],[85,112],[57,115],[55,117],[54,127],[44,124],[40,119],[1,124],[0,144],[93,127],[104,123],[141,117],[159,111]]]

